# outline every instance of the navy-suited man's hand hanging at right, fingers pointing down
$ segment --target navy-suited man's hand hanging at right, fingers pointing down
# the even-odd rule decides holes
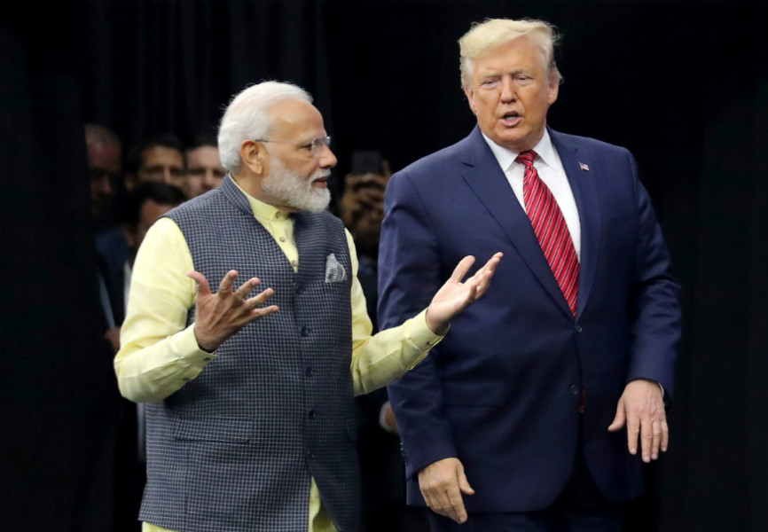
[[[619,399],[614,422],[608,426],[616,432],[627,426],[627,445],[631,454],[638,454],[638,437],[643,461],[659,458],[670,442],[670,427],[664,411],[662,388],[652,380],[632,380]]]

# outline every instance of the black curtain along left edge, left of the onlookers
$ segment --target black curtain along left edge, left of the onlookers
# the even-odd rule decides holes
[[[0,19],[0,528],[112,529],[120,411],[98,306],[73,13]]]

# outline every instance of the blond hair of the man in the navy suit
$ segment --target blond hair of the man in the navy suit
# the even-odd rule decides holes
[[[474,62],[498,50],[506,43],[526,37],[536,44],[542,53],[544,69],[550,82],[562,81],[554,62],[554,45],[560,40],[555,28],[544,20],[488,19],[475,22],[472,28],[458,39],[460,56],[461,88],[471,86]]]

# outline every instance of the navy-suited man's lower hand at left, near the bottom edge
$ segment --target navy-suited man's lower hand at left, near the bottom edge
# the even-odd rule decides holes
[[[466,521],[461,494],[474,495],[458,458],[443,458],[419,471],[419,489],[435,513],[461,524]]]

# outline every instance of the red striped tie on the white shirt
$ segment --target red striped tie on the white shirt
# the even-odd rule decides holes
[[[522,197],[528,210],[528,217],[536,233],[538,243],[552,268],[554,278],[560,285],[568,308],[576,317],[576,293],[579,282],[579,262],[576,249],[552,192],[539,178],[533,161],[536,152],[523,152],[515,159],[525,165],[525,177],[522,182]]]

